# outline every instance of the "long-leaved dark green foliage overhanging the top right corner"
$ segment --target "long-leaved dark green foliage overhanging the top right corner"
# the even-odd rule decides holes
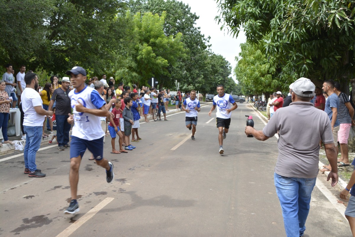
[[[277,78],[286,83],[308,77],[349,85],[354,76],[355,1],[216,0],[222,27],[261,44],[277,63]]]

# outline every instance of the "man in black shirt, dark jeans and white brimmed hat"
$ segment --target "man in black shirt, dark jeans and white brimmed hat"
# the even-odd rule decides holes
[[[70,98],[68,97],[69,85],[69,77],[63,77],[62,86],[53,92],[48,107],[48,110],[51,111],[54,102],[56,103],[55,120],[57,122],[57,141],[58,149],[61,151],[64,150],[64,147],[70,148],[68,142],[71,125],[67,122],[68,114],[71,113]]]

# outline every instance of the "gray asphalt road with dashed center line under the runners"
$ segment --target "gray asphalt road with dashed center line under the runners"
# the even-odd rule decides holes
[[[71,219],[63,214],[71,199],[69,150],[41,146],[50,146],[37,153],[45,178],[23,174],[23,155],[1,161],[19,152],[0,157],[0,235],[285,236],[273,184],[277,139],[247,138],[245,115],[253,115],[257,129],[264,124],[250,106],[238,104],[220,155],[215,112],[209,117],[209,109],[198,114],[195,141],[185,113],[142,123],[143,140],[128,154],[111,154],[106,137],[104,156],[115,166],[110,184],[87,151],[78,186],[81,210]],[[320,175],[321,187],[330,186],[324,180]],[[352,236],[342,214],[315,187],[305,236]]]

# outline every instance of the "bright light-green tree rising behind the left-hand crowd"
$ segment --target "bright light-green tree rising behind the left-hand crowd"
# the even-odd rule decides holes
[[[137,12],[132,16],[127,12],[126,21],[130,20],[133,31],[127,37],[131,38],[132,44],[128,45],[127,54],[119,59],[122,65],[117,75],[125,83],[137,85],[147,84],[151,77],[155,77],[160,86],[171,84],[169,67],[175,66],[177,60],[185,56],[181,33],[175,36],[164,34],[165,13],[159,16]]]

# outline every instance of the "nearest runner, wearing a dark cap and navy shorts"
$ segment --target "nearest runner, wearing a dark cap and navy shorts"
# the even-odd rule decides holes
[[[70,143],[69,182],[72,200],[64,213],[75,214],[80,210],[76,195],[80,162],[86,149],[92,152],[97,165],[106,169],[108,183],[113,180],[114,173],[113,164],[103,158],[105,133],[101,128],[100,117],[108,116],[106,102],[96,90],[85,85],[85,69],[75,66],[70,71],[66,71],[66,74],[70,75],[70,81],[74,87],[74,90],[71,90],[68,95],[73,109],[73,114],[69,114],[68,123],[75,123]]]

